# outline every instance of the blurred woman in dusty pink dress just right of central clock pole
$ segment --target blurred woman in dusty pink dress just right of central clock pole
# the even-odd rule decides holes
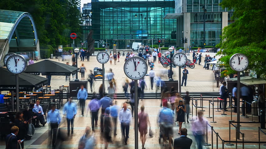
[[[144,106],[140,106],[140,113],[138,114],[138,128],[140,132],[140,140],[142,143],[142,149],[144,148],[145,141],[146,141],[146,134],[148,133],[148,124],[150,126],[150,120],[148,113],[144,113]]]

